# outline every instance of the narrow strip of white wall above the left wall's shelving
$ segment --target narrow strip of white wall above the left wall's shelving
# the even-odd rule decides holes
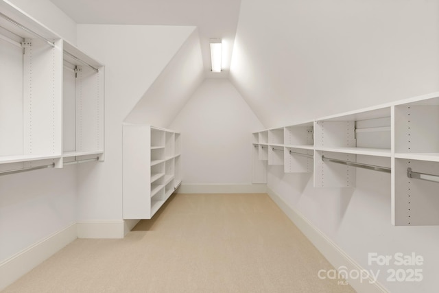
[[[69,43],[76,44],[76,23],[49,0],[5,0]]]

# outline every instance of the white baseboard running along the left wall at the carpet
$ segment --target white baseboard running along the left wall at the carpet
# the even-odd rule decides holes
[[[76,239],[76,224],[58,231],[0,263],[0,291]]]

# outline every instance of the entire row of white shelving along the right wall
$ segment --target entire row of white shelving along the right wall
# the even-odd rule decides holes
[[[253,145],[265,167],[279,163],[270,148],[283,148],[285,173],[313,172],[314,187],[355,187],[357,167],[387,173],[392,224],[439,224],[439,93],[254,132]]]

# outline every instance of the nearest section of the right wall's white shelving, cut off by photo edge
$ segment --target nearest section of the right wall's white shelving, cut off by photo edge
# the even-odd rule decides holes
[[[394,106],[393,122],[392,220],[396,225],[438,225],[439,95]],[[420,178],[409,178],[408,168]]]

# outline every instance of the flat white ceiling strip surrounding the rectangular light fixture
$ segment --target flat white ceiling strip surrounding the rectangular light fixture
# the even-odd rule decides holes
[[[200,33],[204,69],[226,77],[241,0],[51,0],[80,24],[195,25]],[[223,40],[222,73],[211,73],[210,38]],[[133,40],[135,42],[135,40]]]

